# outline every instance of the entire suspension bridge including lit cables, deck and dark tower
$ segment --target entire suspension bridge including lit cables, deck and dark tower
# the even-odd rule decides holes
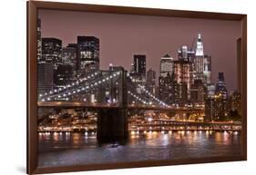
[[[128,138],[128,110],[203,112],[203,108],[175,107],[159,100],[123,68],[80,77],[54,91],[38,95],[40,108],[97,109],[97,140]]]

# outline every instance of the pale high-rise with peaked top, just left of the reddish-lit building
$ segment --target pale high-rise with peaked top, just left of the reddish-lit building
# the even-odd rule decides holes
[[[169,73],[173,73],[173,58],[169,54],[165,54],[160,60],[160,76],[165,77]]]

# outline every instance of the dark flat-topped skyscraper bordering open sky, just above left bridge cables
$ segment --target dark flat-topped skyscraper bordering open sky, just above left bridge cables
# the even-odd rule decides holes
[[[81,73],[99,70],[99,40],[95,36],[77,36],[77,62]]]

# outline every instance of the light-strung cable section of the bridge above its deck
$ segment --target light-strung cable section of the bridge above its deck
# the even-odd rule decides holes
[[[79,78],[75,83],[39,94],[38,100],[39,102],[115,103],[119,106],[123,103],[132,103],[169,107],[148,92],[143,85],[134,82],[135,80],[124,70],[96,72]],[[104,92],[108,92],[108,95],[103,94]],[[88,98],[92,96],[96,99]]]

